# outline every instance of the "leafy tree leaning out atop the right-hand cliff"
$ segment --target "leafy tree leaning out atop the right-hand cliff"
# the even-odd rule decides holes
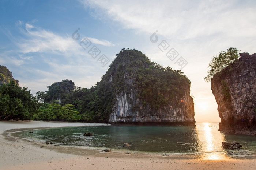
[[[224,68],[226,68],[230,63],[234,62],[236,59],[240,57],[237,48],[230,47],[227,52],[222,51],[219,55],[215,55],[209,63],[208,67],[210,70],[207,71],[208,75],[204,78],[206,82],[211,82],[214,74],[220,72]]]

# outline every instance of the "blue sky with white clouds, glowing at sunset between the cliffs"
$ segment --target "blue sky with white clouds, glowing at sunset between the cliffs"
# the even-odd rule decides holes
[[[255,0],[0,0],[0,64],[35,95],[64,79],[90,88],[122,48],[191,80],[196,122],[220,122],[208,64],[256,52]]]

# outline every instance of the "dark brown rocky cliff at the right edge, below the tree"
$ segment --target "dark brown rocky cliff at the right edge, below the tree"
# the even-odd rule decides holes
[[[256,53],[240,56],[211,80],[221,118],[219,130],[256,135]]]

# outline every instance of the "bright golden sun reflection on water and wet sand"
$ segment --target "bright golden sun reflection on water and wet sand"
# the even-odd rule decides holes
[[[218,131],[218,126],[213,123],[200,123],[196,126],[197,136],[200,143],[200,151],[203,159],[225,159],[222,142],[225,141],[223,133]],[[219,150],[219,152],[216,152]]]

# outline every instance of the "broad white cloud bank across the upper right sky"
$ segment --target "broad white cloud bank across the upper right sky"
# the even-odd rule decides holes
[[[256,3],[253,1],[170,1],[170,0],[84,0],[101,16],[117,21],[126,29],[151,33],[155,30],[167,38],[190,39],[226,33],[234,36],[256,35]],[[246,12],[245,12],[246,11]],[[98,14],[97,14],[98,15]],[[244,31],[246,29],[247,31]]]

